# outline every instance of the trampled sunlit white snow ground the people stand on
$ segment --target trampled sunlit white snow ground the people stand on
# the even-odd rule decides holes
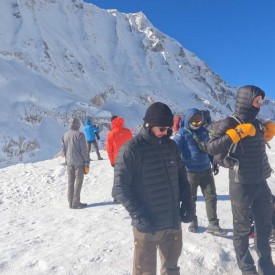
[[[275,141],[271,146],[268,155],[275,169]],[[113,168],[106,152],[101,154],[105,160],[92,161],[91,172],[85,176],[81,200],[88,208],[82,210],[68,207],[62,157],[0,169],[1,274],[131,274],[130,219],[121,205],[112,203]],[[96,159],[95,153],[91,158]],[[199,233],[190,233],[187,225],[182,225],[181,274],[240,275],[232,245],[227,173],[221,168],[215,179],[218,217],[228,236],[214,237],[205,232],[205,204],[199,193]],[[274,174],[268,182],[275,194]]]

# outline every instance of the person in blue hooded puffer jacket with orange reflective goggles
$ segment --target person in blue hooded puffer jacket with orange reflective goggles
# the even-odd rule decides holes
[[[184,127],[182,127],[183,125]],[[209,222],[206,232],[218,236],[226,235],[227,232],[220,228],[217,218],[217,194],[213,172],[216,175],[219,171],[216,164],[213,165],[213,170],[211,169],[210,157],[206,150],[209,132],[203,126],[201,111],[195,108],[187,110],[174,140],[185,162],[195,212],[197,191],[200,187],[205,198],[206,214]],[[198,231],[198,218],[196,215],[189,224],[188,230],[194,233]]]

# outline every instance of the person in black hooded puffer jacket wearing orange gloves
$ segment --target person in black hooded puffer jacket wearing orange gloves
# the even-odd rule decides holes
[[[272,229],[272,196],[266,179],[271,168],[266,155],[267,138],[274,135],[274,123],[262,125],[256,119],[265,93],[255,86],[238,89],[235,114],[217,122],[207,144],[211,155],[226,155],[229,162],[229,193],[233,213],[233,245],[242,274],[275,274],[269,236]],[[228,159],[228,158],[227,158]],[[249,252],[250,215],[255,220],[258,273]]]

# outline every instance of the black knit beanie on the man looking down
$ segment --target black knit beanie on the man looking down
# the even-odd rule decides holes
[[[146,110],[143,118],[145,127],[173,126],[173,114],[171,109],[162,102],[151,104]]]

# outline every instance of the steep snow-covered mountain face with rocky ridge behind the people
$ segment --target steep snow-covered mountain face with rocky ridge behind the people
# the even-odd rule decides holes
[[[72,116],[92,117],[104,137],[112,114],[140,125],[148,98],[216,119],[234,109],[235,88],[141,12],[1,1],[0,39],[0,167],[51,158]],[[265,117],[274,117],[271,103]]]

